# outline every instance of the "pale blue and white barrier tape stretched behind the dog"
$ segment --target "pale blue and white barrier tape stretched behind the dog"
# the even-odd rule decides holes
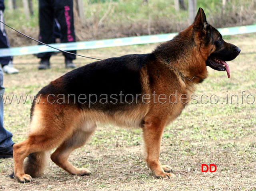
[[[256,32],[256,24],[248,25],[248,26],[230,27],[230,28],[219,28],[218,30],[222,35],[254,33]],[[172,39],[175,35],[177,35],[177,33],[166,33],[166,34],[158,34],[158,35],[145,35],[145,36],[138,36],[138,37],[124,37],[124,38],[96,40],[96,41],[82,41],[82,42],[72,42],[72,43],[54,43],[49,45],[61,50],[70,51],[70,50],[94,49],[94,48],[136,45],[136,44],[158,43],[158,42],[168,41]],[[0,49],[0,57],[37,54],[37,53],[52,52],[52,51],[57,51],[57,50],[51,47],[47,47],[46,45],[2,48]]]

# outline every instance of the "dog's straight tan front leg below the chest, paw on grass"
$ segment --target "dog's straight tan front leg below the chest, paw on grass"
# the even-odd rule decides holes
[[[164,123],[159,118],[147,118],[143,124],[143,137],[145,143],[145,159],[148,167],[156,175],[156,177],[175,177],[170,173],[168,165],[161,165],[159,161],[160,144]]]

